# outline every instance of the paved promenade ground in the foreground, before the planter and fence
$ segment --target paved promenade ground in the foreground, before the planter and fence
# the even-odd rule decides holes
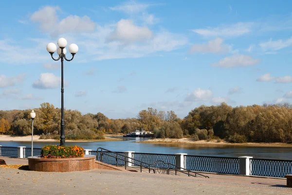
[[[0,168],[2,195],[291,195],[285,179],[210,178],[93,170],[45,173]]]

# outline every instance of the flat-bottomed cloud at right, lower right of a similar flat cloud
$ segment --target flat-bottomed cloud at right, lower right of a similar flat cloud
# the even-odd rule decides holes
[[[259,59],[253,59],[248,55],[233,55],[231,57],[226,57],[224,59],[220,59],[219,62],[213,63],[213,66],[219,67],[237,67],[237,66],[252,66],[259,62]]]

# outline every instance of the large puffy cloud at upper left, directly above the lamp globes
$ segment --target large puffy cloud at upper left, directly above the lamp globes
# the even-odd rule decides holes
[[[59,7],[44,6],[33,13],[31,20],[40,24],[40,29],[50,32],[53,36],[63,33],[82,33],[92,32],[95,29],[95,23],[88,16],[70,15],[65,19],[59,20],[57,11]]]

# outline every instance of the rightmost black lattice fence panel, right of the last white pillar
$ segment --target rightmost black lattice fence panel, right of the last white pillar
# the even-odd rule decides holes
[[[250,158],[250,173],[253,176],[285,177],[292,174],[292,160]]]

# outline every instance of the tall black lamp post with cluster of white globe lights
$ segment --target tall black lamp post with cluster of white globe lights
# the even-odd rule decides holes
[[[52,59],[54,59],[53,54],[55,51],[57,51],[57,54],[59,55],[58,59],[54,59],[55,61],[58,61],[61,59],[61,74],[62,74],[62,81],[61,81],[61,136],[60,136],[60,145],[65,145],[65,120],[64,120],[64,75],[63,75],[63,61],[66,59],[67,61],[71,61],[74,58],[74,55],[78,52],[78,46],[76,44],[69,45],[69,52],[72,54],[72,59],[66,58],[66,46],[67,46],[67,40],[64,38],[58,39],[57,42],[59,48],[57,49],[57,46],[55,43],[49,43],[47,45],[47,51],[51,54]]]

